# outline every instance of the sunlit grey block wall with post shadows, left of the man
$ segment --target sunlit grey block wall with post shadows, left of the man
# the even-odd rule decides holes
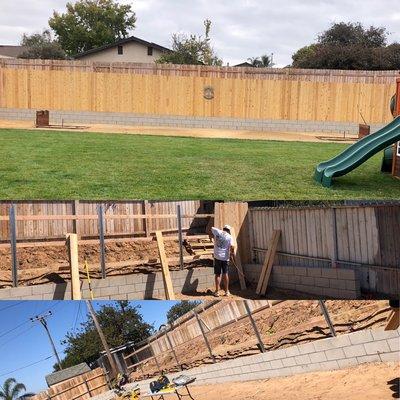
[[[171,271],[171,279],[176,293],[193,293],[214,285],[213,269],[208,267]],[[164,285],[161,272],[151,274],[131,274],[93,279],[92,289],[96,299],[141,300],[164,299]],[[82,297],[90,298],[87,281],[82,282]],[[0,289],[0,300],[69,300],[71,283],[48,283],[36,286],[20,286]]]

